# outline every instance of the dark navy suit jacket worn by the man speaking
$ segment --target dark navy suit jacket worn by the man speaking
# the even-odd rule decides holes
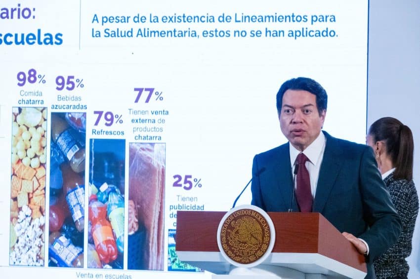
[[[348,232],[369,245],[367,278],[375,278],[372,262],[396,242],[401,221],[371,147],[324,132],[326,146],[319,172],[313,211],[320,212],[340,232]],[[293,191],[289,143],[255,155],[252,205],[265,211],[288,211]],[[293,211],[297,212],[296,199]]]

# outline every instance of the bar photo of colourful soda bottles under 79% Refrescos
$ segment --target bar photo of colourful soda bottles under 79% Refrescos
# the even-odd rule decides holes
[[[126,141],[90,139],[88,268],[124,268]]]

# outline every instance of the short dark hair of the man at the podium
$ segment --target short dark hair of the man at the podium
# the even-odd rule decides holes
[[[320,115],[322,111],[327,109],[328,96],[321,84],[308,77],[296,77],[285,81],[282,86],[280,86],[279,92],[277,92],[276,96],[278,113],[282,110],[283,95],[289,89],[305,90],[314,94],[316,97],[316,106]]]

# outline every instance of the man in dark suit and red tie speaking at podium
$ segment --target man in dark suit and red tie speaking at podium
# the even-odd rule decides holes
[[[367,278],[375,278],[373,260],[396,242],[401,221],[372,148],[321,131],[327,93],[313,79],[283,83],[277,111],[289,142],[255,155],[252,174],[264,171],[252,180],[252,205],[265,211],[320,212],[366,255]]]

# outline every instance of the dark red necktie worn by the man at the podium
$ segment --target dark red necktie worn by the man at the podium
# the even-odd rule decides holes
[[[312,212],[311,180],[305,162],[309,161],[303,153],[299,153],[296,164],[299,165],[296,174],[296,200],[300,212]]]

